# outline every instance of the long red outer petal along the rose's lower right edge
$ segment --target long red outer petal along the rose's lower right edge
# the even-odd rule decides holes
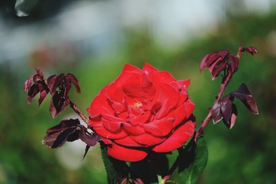
[[[175,150],[188,141],[195,131],[195,123],[188,121],[181,125],[172,133],[163,143],[155,146],[152,150],[155,152],[170,152]]]

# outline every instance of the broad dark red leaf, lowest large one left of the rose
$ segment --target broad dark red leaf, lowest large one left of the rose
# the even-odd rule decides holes
[[[77,125],[79,125],[78,119],[61,121],[59,124],[47,130],[42,143],[51,148],[60,147],[68,140],[70,135],[77,132]]]

